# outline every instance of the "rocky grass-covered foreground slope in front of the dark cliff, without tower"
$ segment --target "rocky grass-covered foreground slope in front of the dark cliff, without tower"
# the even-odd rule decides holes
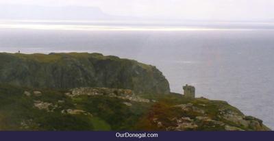
[[[36,93],[36,94],[35,94]],[[37,95],[38,94],[38,95]],[[49,90],[0,84],[0,129],[268,131],[225,101],[118,88]]]

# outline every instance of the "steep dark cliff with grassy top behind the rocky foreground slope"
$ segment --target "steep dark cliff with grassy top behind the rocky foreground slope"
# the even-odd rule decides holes
[[[0,53],[0,83],[29,88],[83,86],[125,88],[136,93],[169,93],[155,66],[99,53]]]

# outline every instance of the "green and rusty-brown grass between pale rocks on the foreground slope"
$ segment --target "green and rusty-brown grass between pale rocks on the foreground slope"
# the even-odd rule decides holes
[[[165,130],[164,127],[176,126],[173,118],[189,117],[196,120],[197,116],[208,116],[212,120],[221,121],[227,125],[240,127],[236,123],[219,118],[219,110],[232,110],[242,114],[236,107],[225,101],[210,101],[208,99],[184,99],[181,94],[140,94],[139,97],[155,100],[153,103],[138,103],[125,99],[106,96],[67,97],[66,90],[38,89],[41,96],[27,97],[24,91],[33,92],[31,88],[19,88],[8,84],[0,84],[0,130],[45,130],[45,131],[121,131],[121,130]],[[58,105],[53,112],[38,110],[34,101],[43,101]],[[58,101],[62,101],[61,103]],[[132,103],[132,106],[124,102]],[[184,112],[180,107],[191,103],[194,107],[204,110],[199,112]],[[62,110],[84,110],[92,114],[62,114]],[[153,123],[158,118],[164,127]],[[22,123],[27,127],[22,127]],[[198,130],[224,130],[224,127],[214,125],[206,120],[197,121]],[[247,129],[245,127],[240,127]],[[249,129],[247,129],[249,130]]]

